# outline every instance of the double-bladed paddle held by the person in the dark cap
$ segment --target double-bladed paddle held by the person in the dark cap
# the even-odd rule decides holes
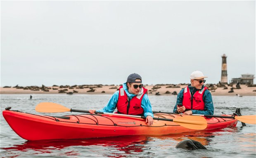
[[[81,112],[81,113],[90,113],[89,111],[85,110],[76,110],[72,108],[66,108],[60,104],[51,103],[51,102],[42,102],[39,103],[35,110],[37,112],[43,113],[62,113],[62,112]],[[116,115],[116,116],[129,116],[135,118],[146,118],[145,116],[137,116],[137,115],[125,115],[125,114],[118,114],[118,113],[104,113],[104,112],[95,112],[97,114],[107,114],[107,115]],[[185,116],[179,117],[174,119],[168,118],[153,118],[154,120],[164,120],[164,121],[172,121],[177,123],[180,126],[192,129],[192,130],[204,130],[207,127],[206,119],[201,116]]]

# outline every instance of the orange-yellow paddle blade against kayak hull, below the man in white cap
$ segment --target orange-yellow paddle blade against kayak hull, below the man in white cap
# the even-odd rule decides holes
[[[173,119],[173,122],[192,130],[204,130],[207,127],[207,121],[202,116],[183,116]]]

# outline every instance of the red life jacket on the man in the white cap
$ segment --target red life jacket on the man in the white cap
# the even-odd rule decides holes
[[[207,87],[204,87],[202,90],[197,90],[194,93],[193,96],[193,102],[191,104],[191,93],[189,87],[184,88],[183,93],[183,101],[182,105],[185,106],[186,109],[191,110],[204,110],[204,101],[203,101],[203,95],[204,91],[207,89]]]

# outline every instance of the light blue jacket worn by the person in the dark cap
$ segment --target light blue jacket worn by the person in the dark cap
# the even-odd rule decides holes
[[[127,85],[126,83],[123,83],[123,90],[125,90],[127,96],[129,97],[129,100],[131,100],[133,97],[137,96],[136,94],[130,94],[128,92],[127,89]],[[118,101],[118,97],[119,97],[119,91],[116,91],[112,97],[110,98],[109,102],[107,103],[107,105],[102,108],[101,110],[97,110],[98,112],[105,112],[105,113],[113,113],[116,109],[116,104]],[[142,101],[141,101],[141,107],[144,110],[144,116],[152,116],[152,118],[154,117],[153,112],[152,112],[152,106],[151,103],[149,101],[148,95],[144,94]]]

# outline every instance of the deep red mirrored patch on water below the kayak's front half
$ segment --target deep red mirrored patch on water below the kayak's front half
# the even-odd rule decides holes
[[[17,144],[12,147],[1,148],[6,151],[36,151],[40,153],[52,153],[55,150],[63,150],[70,146],[81,148],[83,146],[104,146],[111,147],[123,153],[131,154],[133,152],[142,152],[144,144],[147,144],[150,137],[146,136],[124,136],[124,137],[107,137],[95,139],[61,139],[61,140],[42,140],[42,141],[25,141],[23,144]],[[67,152],[66,155],[73,155],[76,151]],[[114,154],[114,153],[112,153]],[[122,156],[118,156],[122,157]]]

